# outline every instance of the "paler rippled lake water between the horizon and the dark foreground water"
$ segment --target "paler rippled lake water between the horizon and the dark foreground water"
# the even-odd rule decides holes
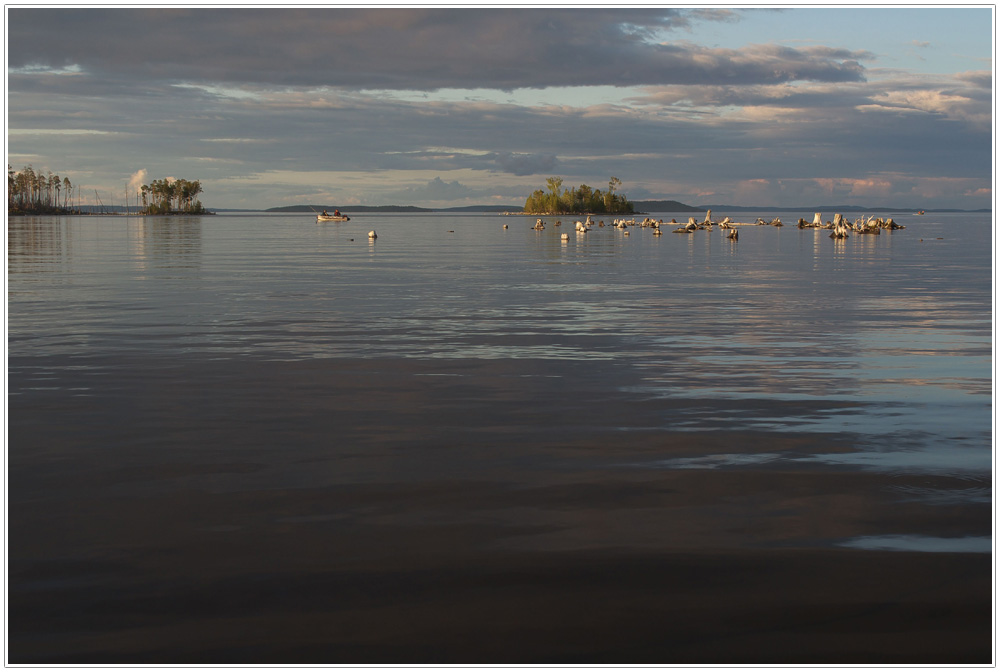
[[[599,396],[677,407],[642,427],[844,433],[855,452],[810,459],[989,468],[988,215],[840,242],[747,227],[736,244],[610,226],[562,242],[572,221],[10,219],[11,394],[58,388],[55,356],[111,376],[126,354],[587,362]]]

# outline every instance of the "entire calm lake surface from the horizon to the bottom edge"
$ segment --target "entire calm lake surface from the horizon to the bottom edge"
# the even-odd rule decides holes
[[[11,218],[7,660],[989,663],[991,217],[896,219]]]

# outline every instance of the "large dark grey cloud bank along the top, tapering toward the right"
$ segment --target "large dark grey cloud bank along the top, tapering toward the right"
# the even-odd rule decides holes
[[[9,10],[14,68],[100,78],[433,90],[857,81],[866,54],[656,44],[708,18],[678,9]],[[95,36],[105,36],[100,39]]]

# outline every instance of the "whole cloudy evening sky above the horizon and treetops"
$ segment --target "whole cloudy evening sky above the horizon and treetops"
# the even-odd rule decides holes
[[[104,202],[991,207],[993,10],[7,9],[7,162]]]

